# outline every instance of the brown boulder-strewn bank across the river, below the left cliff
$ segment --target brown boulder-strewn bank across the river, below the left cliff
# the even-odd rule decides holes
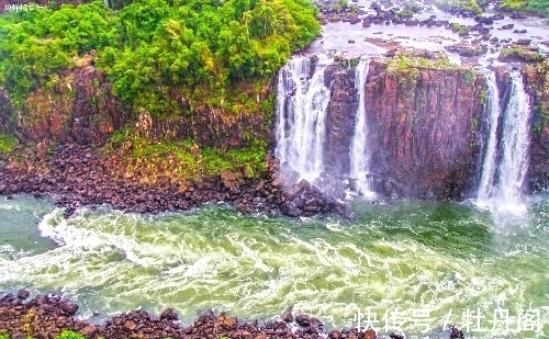
[[[0,157],[0,194],[9,199],[18,193],[52,195],[57,205],[67,208],[66,216],[81,205],[109,204],[126,212],[160,213],[217,202],[232,204],[243,213],[260,211],[293,217],[347,213],[335,197],[306,181],[284,185],[277,179],[277,160],[267,156],[266,161],[268,172],[258,179],[223,171],[197,182],[158,177],[147,183],[150,173],[136,171],[127,178],[121,157],[104,155],[101,148],[65,144],[52,154],[29,147]]]

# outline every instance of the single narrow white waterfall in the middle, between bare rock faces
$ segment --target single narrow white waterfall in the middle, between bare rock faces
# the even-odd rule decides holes
[[[356,191],[358,194],[372,195],[368,184],[368,149],[367,149],[367,131],[366,124],[366,100],[365,88],[368,77],[368,69],[370,59],[361,58],[355,71],[355,88],[358,92],[358,108],[355,118],[355,134],[352,136],[349,158],[350,158],[350,173],[351,179],[357,180]]]

